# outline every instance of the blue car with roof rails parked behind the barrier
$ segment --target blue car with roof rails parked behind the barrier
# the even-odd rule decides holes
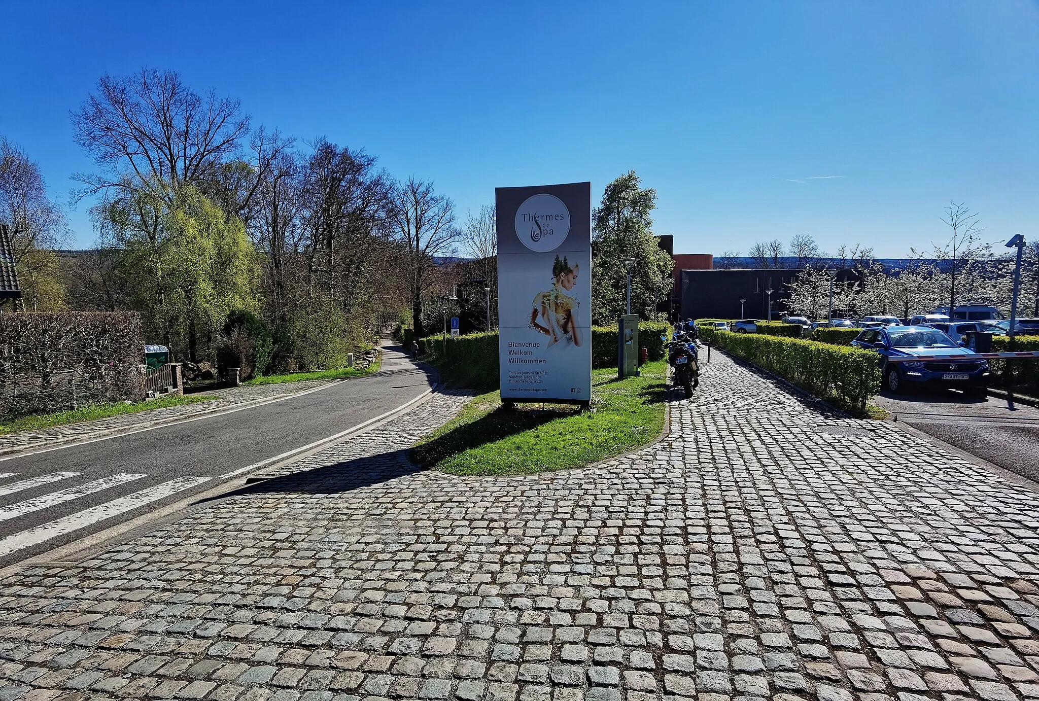
[[[863,329],[851,342],[852,346],[880,353],[884,386],[903,392],[908,386],[939,386],[962,389],[966,395],[987,394],[988,360],[963,348],[948,335],[930,326],[887,326]],[[888,362],[889,357],[928,355],[977,356],[942,360],[903,360]]]

